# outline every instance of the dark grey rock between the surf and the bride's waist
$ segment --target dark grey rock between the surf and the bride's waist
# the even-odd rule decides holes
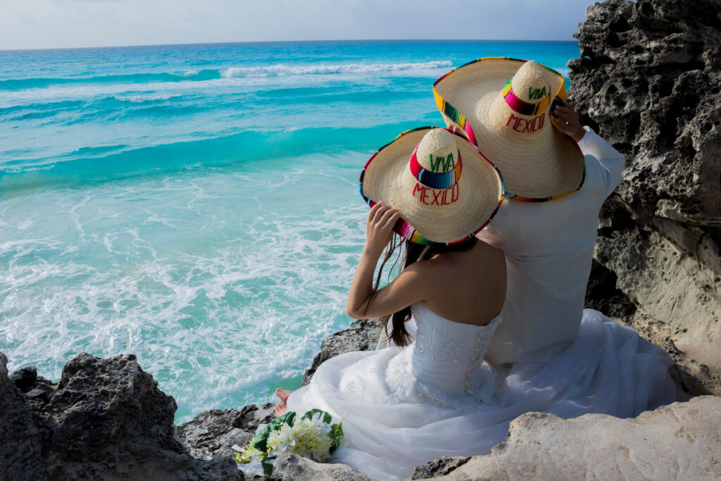
[[[354,350],[375,349],[381,330],[382,327],[377,319],[361,319],[353,322],[344,330],[325,337],[321,343],[320,352],[313,358],[313,364],[303,375],[303,385],[310,382],[316,369],[324,361]]]

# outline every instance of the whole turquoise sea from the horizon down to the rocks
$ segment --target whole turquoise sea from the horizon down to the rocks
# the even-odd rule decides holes
[[[345,295],[358,175],[443,123],[485,56],[564,75],[577,43],[323,42],[0,51],[0,350],[57,380],[135,353],[178,423],[300,387]]]

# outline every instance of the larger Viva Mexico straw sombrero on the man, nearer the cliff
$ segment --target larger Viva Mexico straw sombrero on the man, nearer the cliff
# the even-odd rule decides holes
[[[583,154],[549,116],[554,98],[566,97],[557,71],[534,61],[481,58],[436,80],[433,93],[446,123],[497,165],[506,196],[552,200],[583,185]]]

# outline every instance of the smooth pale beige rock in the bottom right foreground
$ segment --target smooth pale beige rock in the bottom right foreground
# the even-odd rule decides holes
[[[721,397],[675,402],[638,418],[563,420],[528,412],[508,441],[440,480],[718,480]]]

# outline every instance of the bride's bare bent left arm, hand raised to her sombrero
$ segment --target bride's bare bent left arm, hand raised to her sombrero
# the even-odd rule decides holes
[[[373,291],[373,273],[379,257],[393,234],[393,226],[400,217],[400,211],[380,203],[371,208],[366,222],[366,245],[363,247],[361,262],[350,283],[348,303],[345,311],[353,319],[371,319],[398,312],[414,302],[424,299],[423,262],[416,262],[404,269],[379,291]],[[375,293],[375,295],[373,295]]]

